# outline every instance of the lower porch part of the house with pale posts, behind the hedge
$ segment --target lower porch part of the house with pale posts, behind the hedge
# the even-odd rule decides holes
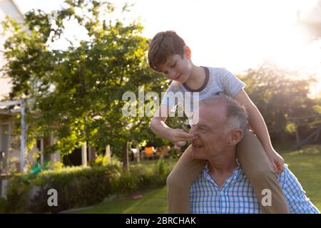
[[[21,172],[30,168],[38,162],[40,165],[44,161],[60,161],[60,155],[55,152],[51,155],[44,155],[44,149],[54,144],[54,138],[41,138],[37,140],[36,145],[31,150],[27,150],[26,128],[24,120],[24,107],[32,102],[28,100],[16,100],[0,103],[0,170],[1,173]],[[9,109],[8,107],[14,107]],[[21,114],[21,133],[15,133],[16,115]],[[37,161],[38,157],[38,161]]]

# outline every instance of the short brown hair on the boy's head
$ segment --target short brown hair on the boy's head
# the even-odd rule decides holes
[[[175,31],[157,33],[148,48],[148,64],[154,71],[161,72],[158,67],[175,54],[184,55],[185,41]]]

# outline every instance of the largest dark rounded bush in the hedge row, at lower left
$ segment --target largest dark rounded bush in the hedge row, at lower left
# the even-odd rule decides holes
[[[59,212],[73,207],[83,207],[101,202],[111,194],[111,180],[120,175],[117,166],[68,167],[56,172],[43,172],[33,181],[39,186],[29,201],[31,212]],[[49,189],[58,192],[58,207],[47,204]]]

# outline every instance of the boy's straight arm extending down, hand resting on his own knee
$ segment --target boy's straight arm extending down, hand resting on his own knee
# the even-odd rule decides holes
[[[275,166],[275,171],[277,173],[281,173],[283,171],[284,160],[272,147],[270,135],[260,111],[252,100],[250,100],[245,90],[240,90],[234,98],[245,106],[248,112],[248,122],[250,123],[251,128],[253,128],[255,134],[262,143],[265,152],[267,153],[267,157],[269,157],[272,164]]]

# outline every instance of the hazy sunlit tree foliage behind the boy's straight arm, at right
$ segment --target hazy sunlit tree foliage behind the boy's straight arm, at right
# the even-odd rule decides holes
[[[262,113],[270,132],[272,142],[284,143],[294,140],[294,126],[288,118],[316,115],[313,109],[317,100],[308,97],[312,76],[305,79],[297,72],[285,71],[271,66],[249,69],[243,76],[238,76],[247,85],[245,90]],[[317,125],[306,121],[300,126],[300,135],[305,135]]]

